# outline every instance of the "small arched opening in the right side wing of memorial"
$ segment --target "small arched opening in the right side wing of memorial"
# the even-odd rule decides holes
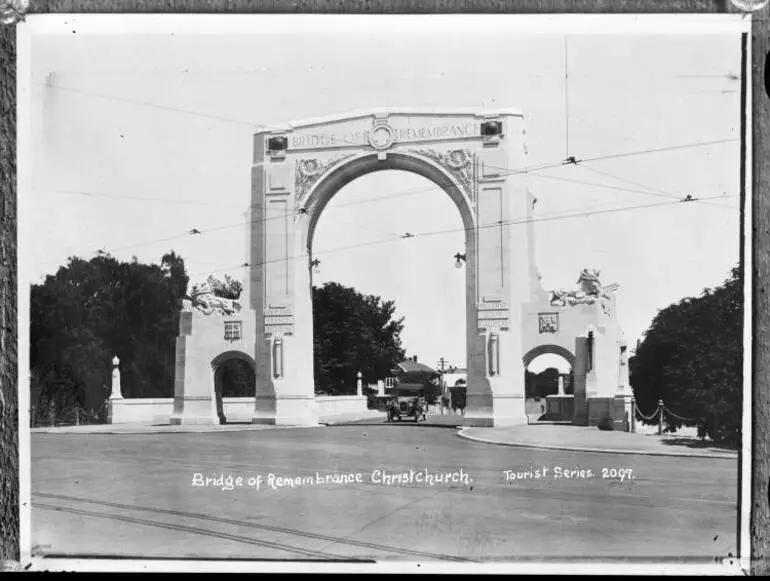
[[[524,390],[527,417],[530,422],[567,420],[550,417],[548,396],[571,396],[575,386],[575,356],[558,345],[541,345],[530,350],[523,358]]]

